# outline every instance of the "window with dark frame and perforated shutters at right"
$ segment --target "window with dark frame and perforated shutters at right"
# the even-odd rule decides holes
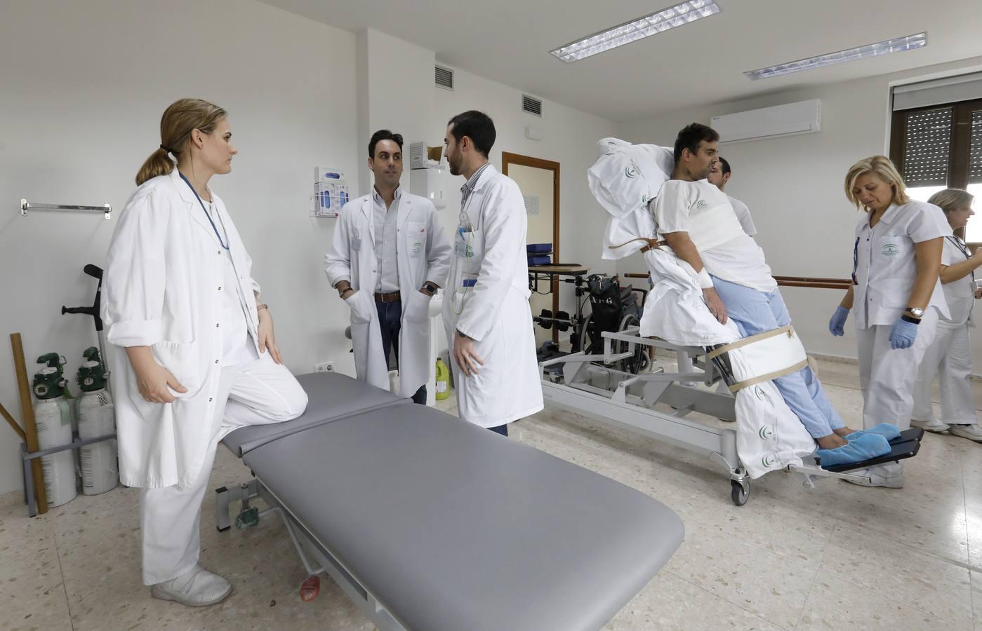
[[[982,245],[982,99],[895,111],[890,158],[914,199],[944,188],[975,195],[964,237]]]

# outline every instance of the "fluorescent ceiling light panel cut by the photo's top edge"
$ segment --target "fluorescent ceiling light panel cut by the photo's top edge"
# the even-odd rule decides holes
[[[551,50],[553,55],[568,64],[592,57],[611,48],[624,46],[632,41],[650,37],[656,33],[676,26],[687,25],[690,22],[708,18],[720,12],[719,6],[712,0],[689,0],[674,7],[656,11],[651,15],[632,20],[621,26],[594,33],[570,42],[562,48]]]

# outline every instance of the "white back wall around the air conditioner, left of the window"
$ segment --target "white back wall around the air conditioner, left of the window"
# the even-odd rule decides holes
[[[727,192],[750,208],[757,241],[778,276],[849,277],[853,231],[859,216],[843,191],[846,170],[856,160],[888,152],[892,82],[972,68],[982,58],[904,73],[858,79],[760,98],[721,103],[624,123],[621,137],[631,142],[672,146],[676,133],[713,116],[791,103],[822,100],[822,131],[720,147],[734,176]],[[622,271],[643,269],[640,258],[621,262]],[[795,328],[809,351],[855,357],[855,337],[833,338],[828,320],[842,299],[832,289],[783,288]],[[982,338],[975,336],[973,356],[982,366]]]

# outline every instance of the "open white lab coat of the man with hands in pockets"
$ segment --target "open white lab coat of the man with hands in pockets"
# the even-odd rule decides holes
[[[372,195],[368,194],[353,199],[341,209],[333,249],[324,256],[324,271],[331,287],[348,278],[355,289],[346,302],[352,309],[357,378],[388,390],[388,357],[382,348],[374,296],[379,270],[373,204]],[[436,208],[425,197],[403,192],[398,212],[396,258],[403,304],[399,394],[409,397],[429,379],[431,297],[419,289],[427,281],[446,287],[452,246],[437,218]]]

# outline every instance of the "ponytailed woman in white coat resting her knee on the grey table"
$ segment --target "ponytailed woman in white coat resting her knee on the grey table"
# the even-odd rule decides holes
[[[106,257],[102,317],[117,367],[120,477],[140,488],[150,594],[213,605],[232,591],[198,564],[215,448],[236,428],[300,416],[307,399],[283,365],[268,307],[256,301],[246,247],[208,187],[237,153],[226,112],[182,99],[164,112],[160,136]]]

